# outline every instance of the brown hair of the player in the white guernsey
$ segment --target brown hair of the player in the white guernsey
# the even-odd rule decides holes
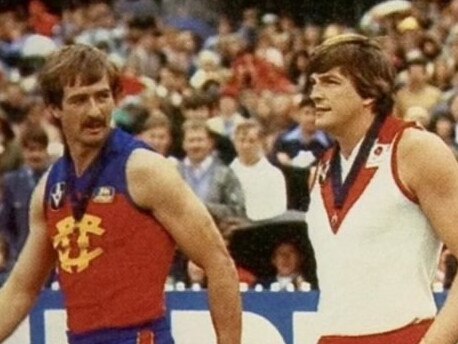
[[[376,40],[358,34],[327,39],[310,56],[307,76],[335,67],[352,80],[361,97],[375,100],[374,111],[379,116],[392,111],[395,70]]]

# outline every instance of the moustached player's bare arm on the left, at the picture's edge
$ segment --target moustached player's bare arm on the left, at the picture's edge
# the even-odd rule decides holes
[[[3,314],[0,316],[0,342],[27,316],[55,263],[43,216],[44,179],[32,195],[29,237],[11,275],[0,289],[0,314]]]

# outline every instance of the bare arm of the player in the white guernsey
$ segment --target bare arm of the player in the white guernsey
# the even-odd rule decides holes
[[[433,134],[408,130],[400,141],[398,162],[401,179],[419,199],[441,240],[458,256],[458,164],[452,152]],[[422,344],[455,344],[456,319],[458,283],[453,283]]]

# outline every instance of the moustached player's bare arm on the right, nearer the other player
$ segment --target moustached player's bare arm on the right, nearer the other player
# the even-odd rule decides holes
[[[180,249],[205,270],[218,344],[239,344],[241,301],[237,273],[205,206],[175,166],[146,150],[137,150],[130,157],[127,181],[134,202],[151,210]]]

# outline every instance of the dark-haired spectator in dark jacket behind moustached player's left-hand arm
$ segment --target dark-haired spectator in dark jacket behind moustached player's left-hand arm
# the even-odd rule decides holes
[[[2,180],[0,232],[9,241],[13,259],[17,259],[29,234],[28,213],[32,192],[51,163],[48,142],[43,128],[25,128],[20,139],[24,164],[6,173]]]

